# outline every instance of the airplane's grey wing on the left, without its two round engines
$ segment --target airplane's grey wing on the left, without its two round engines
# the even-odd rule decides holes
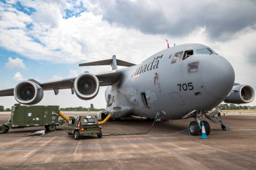
[[[117,82],[120,78],[120,73],[118,73],[116,70],[113,71],[107,71],[104,73],[96,74],[95,76],[98,78],[98,81],[100,83],[100,86],[106,86],[106,85],[112,85],[113,83]],[[72,89],[73,93],[73,83],[75,81],[76,77],[69,78],[69,79],[63,79],[59,81],[51,81],[46,83],[39,83],[35,81],[34,79],[28,79],[28,81],[32,81],[42,87],[42,90],[54,90],[57,91],[59,89]],[[13,95],[14,88],[11,89],[4,89],[0,91],[0,96],[12,96]],[[57,94],[57,92],[55,92]]]

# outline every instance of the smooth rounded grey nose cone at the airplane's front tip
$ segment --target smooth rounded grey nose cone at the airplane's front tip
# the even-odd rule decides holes
[[[225,99],[234,85],[234,69],[222,56],[207,57],[202,66],[206,91],[218,99]]]

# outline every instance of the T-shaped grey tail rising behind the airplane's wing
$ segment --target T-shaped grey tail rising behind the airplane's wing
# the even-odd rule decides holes
[[[99,60],[99,61],[94,61],[94,62],[86,62],[79,64],[79,66],[98,66],[98,65],[111,65],[113,70],[117,69],[117,66],[124,66],[124,67],[131,67],[134,66],[135,64],[131,62],[126,62],[124,60],[118,60],[115,55],[113,55],[112,59],[108,60]]]

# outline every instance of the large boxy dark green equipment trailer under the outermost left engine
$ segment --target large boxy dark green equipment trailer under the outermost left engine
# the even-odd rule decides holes
[[[0,126],[0,134],[9,131],[9,128],[26,128],[44,126],[46,130],[53,131],[56,126],[65,124],[59,120],[58,105],[20,105],[11,107],[11,118],[7,123]]]

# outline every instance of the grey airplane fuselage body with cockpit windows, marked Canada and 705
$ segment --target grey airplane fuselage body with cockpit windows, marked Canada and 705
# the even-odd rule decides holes
[[[119,108],[113,118],[154,118],[160,112],[164,120],[181,119],[193,110],[212,110],[230,93],[234,69],[224,57],[213,51],[207,54],[209,50],[201,44],[174,46],[140,65],[118,69],[122,79],[107,87],[106,110],[113,113]]]

